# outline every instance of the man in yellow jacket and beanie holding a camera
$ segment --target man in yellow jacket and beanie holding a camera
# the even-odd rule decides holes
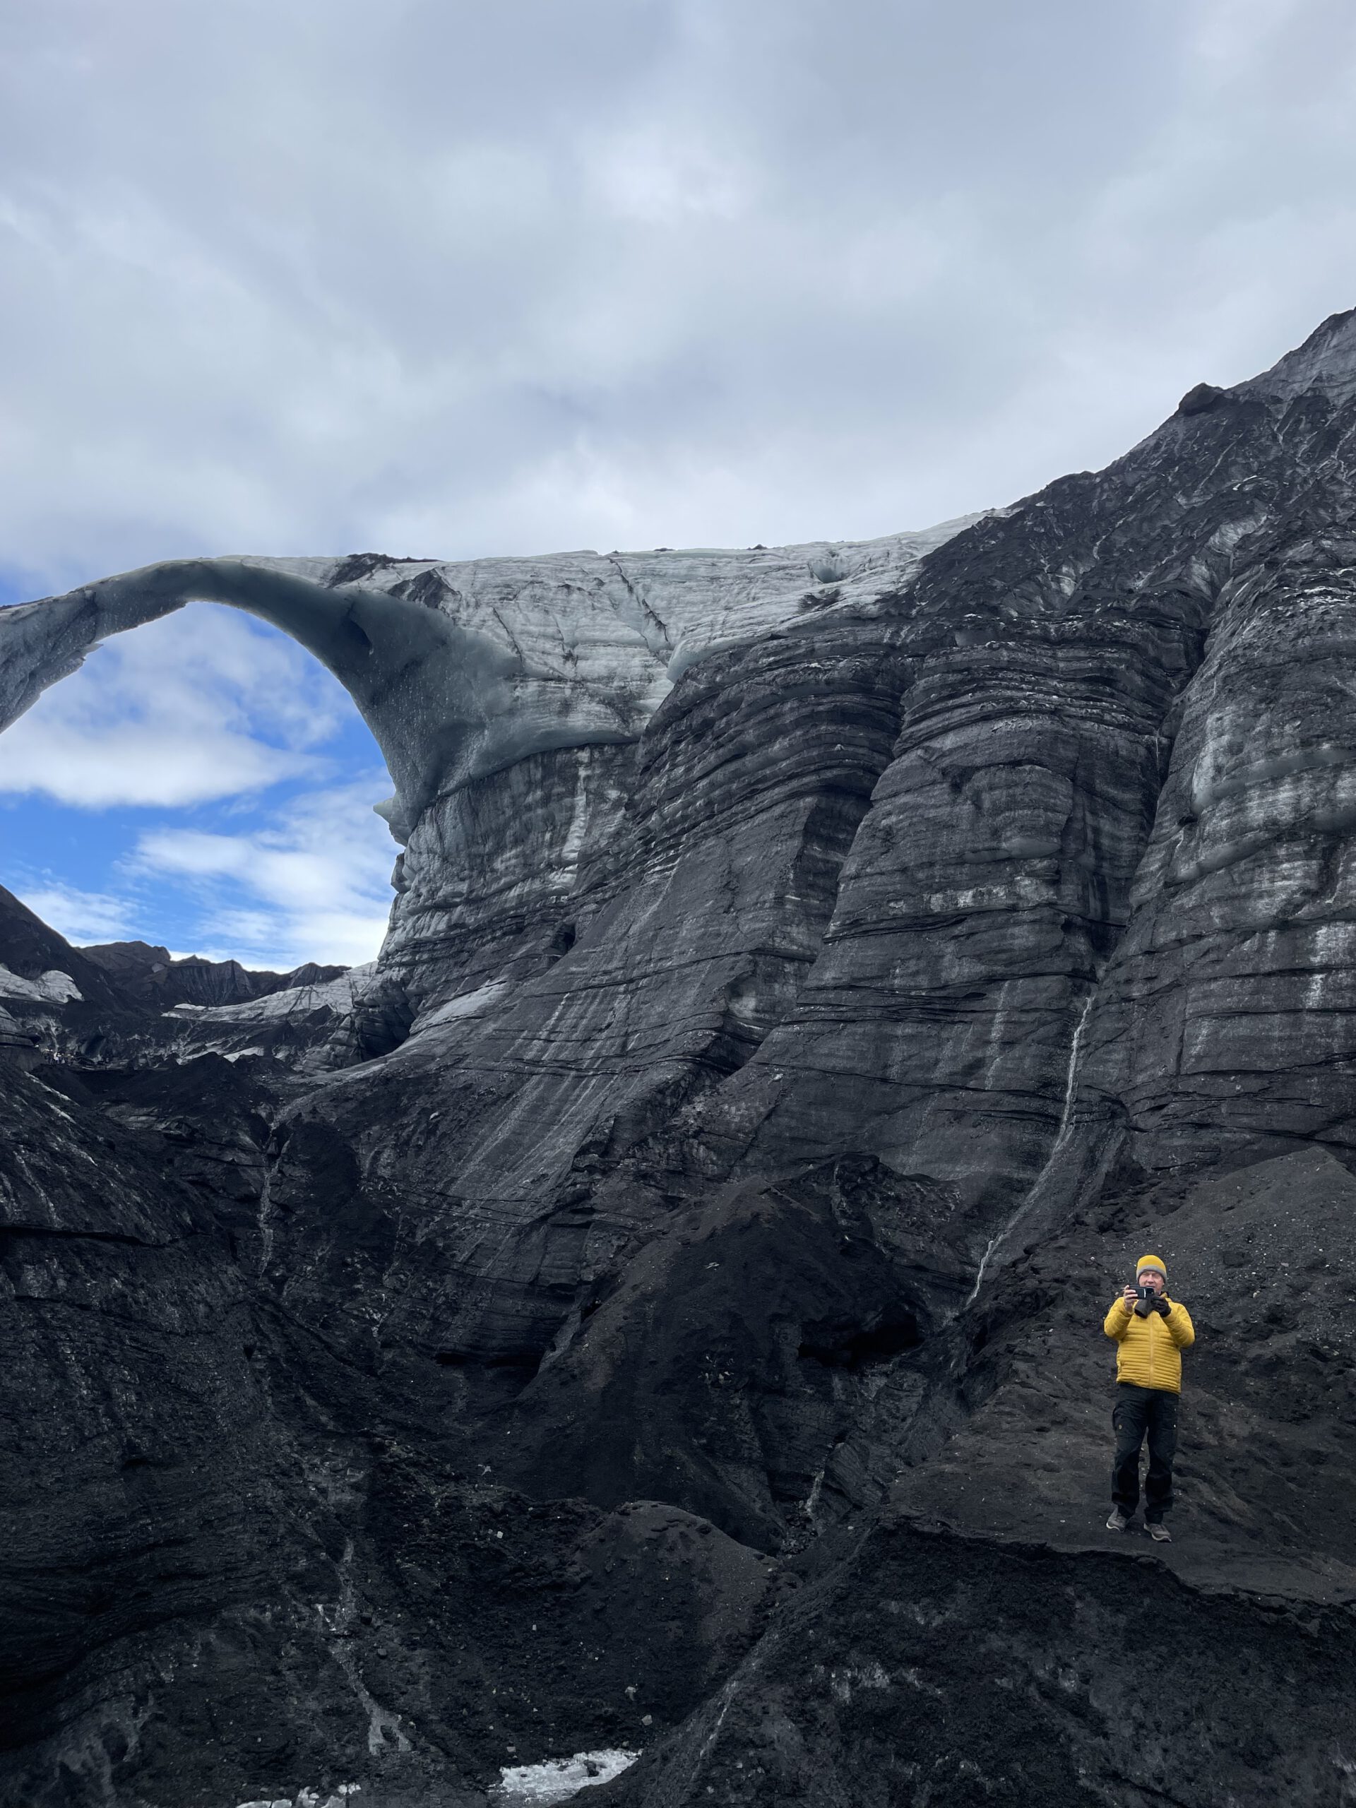
[[[1191,1314],[1168,1298],[1168,1269],[1141,1255],[1135,1285],[1106,1313],[1103,1331],[1116,1340],[1116,1464],[1110,1531],[1125,1531],[1139,1506],[1139,1450],[1148,1434],[1144,1526],[1170,1544],[1163,1515],[1172,1506],[1172,1459],[1177,1455],[1177,1398],[1182,1392],[1182,1351],[1195,1343]]]

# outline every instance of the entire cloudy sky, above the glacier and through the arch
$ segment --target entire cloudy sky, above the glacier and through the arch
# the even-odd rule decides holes
[[[1106,463],[1352,302],[1351,0],[0,11],[7,597],[195,551],[924,526]],[[161,709],[137,673],[175,633],[0,741],[0,879],[213,947],[253,909],[251,958],[333,955],[248,862],[192,902],[146,837],[235,810],[300,846],[371,743],[322,691],[278,716],[293,653],[239,620]],[[195,720],[230,759],[145,758]],[[34,841],[40,801],[98,871]],[[365,835],[349,956],[383,915]]]

